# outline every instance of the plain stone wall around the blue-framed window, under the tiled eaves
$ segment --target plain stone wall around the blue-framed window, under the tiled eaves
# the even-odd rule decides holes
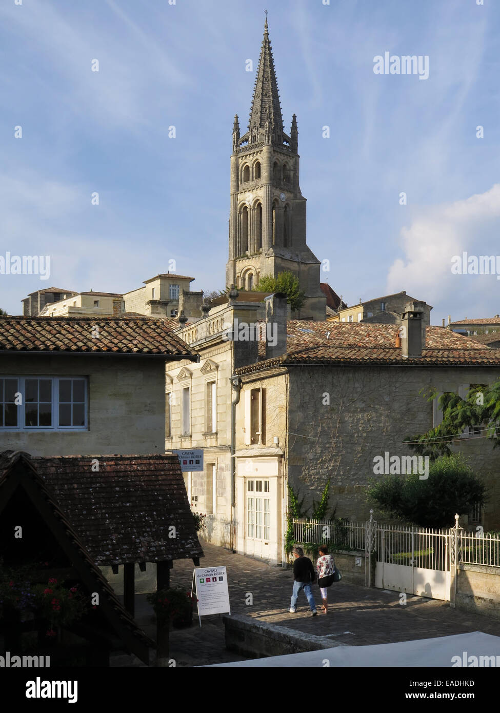
[[[88,430],[0,431],[0,451],[34,456],[165,452],[165,361],[128,356],[2,356],[1,374],[88,377]]]

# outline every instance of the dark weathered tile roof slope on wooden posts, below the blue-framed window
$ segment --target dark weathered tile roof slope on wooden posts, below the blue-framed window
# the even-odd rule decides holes
[[[31,456],[31,463],[96,564],[203,557],[177,456]]]

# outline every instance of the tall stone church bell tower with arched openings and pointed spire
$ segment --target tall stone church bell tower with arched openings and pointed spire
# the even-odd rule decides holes
[[[250,111],[248,131],[233,125],[229,260],[226,284],[257,287],[260,277],[288,270],[306,294],[301,319],[325,319],[320,261],[306,244],[306,199],[299,186],[297,118],[290,135],[283,130],[267,19]]]

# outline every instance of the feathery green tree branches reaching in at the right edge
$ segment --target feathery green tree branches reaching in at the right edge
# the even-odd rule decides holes
[[[467,426],[480,426],[481,436],[500,446],[500,379],[488,386],[472,384],[466,399],[453,391],[438,396],[434,388],[424,397],[427,401],[438,399],[443,420],[427,433],[405,439],[419,455],[437,458],[451,453],[451,446]]]

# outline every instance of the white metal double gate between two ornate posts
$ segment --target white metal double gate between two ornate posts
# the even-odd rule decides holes
[[[379,525],[375,587],[449,601],[451,532]]]

